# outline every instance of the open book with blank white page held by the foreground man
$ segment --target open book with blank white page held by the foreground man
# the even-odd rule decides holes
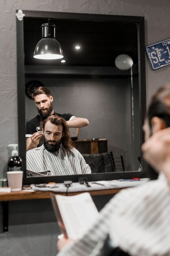
[[[51,201],[65,238],[83,236],[99,214],[89,193],[72,196],[51,194]]]

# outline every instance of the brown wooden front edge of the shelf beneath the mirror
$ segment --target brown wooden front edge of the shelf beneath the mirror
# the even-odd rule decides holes
[[[93,190],[88,191],[90,195],[110,195],[116,194],[121,189],[105,189],[105,190]],[[84,193],[85,191],[78,191],[73,193],[68,193],[68,195],[78,195],[80,193]],[[0,193],[0,201],[17,201],[17,200],[32,200],[32,199],[48,199],[50,198],[50,194],[54,193],[51,191],[47,192],[26,192],[26,191],[17,191],[11,193]],[[55,193],[56,195],[66,195],[66,193]]]

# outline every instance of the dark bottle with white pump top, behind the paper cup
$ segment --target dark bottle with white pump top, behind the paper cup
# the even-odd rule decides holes
[[[12,156],[8,161],[8,171],[22,171],[22,159],[18,156],[17,144],[9,144],[12,147]]]

